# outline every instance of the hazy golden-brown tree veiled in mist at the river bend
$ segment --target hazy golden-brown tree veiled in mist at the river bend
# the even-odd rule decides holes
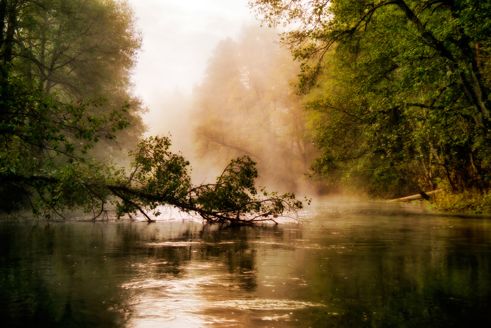
[[[291,85],[299,73],[275,32],[247,28],[237,41],[221,41],[203,83],[194,91],[198,153],[220,164],[247,155],[263,177],[296,187],[313,147],[302,97]]]

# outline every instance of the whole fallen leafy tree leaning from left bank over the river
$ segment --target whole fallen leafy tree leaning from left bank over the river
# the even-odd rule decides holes
[[[258,192],[255,163],[247,156],[232,160],[215,183],[195,186],[187,170],[190,163],[169,146],[166,137],[143,140],[131,153],[131,170],[74,161],[52,175],[4,171],[1,180],[24,190],[34,214],[48,218],[67,218],[82,209],[94,219],[114,211],[117,219],[133,219],[139,212],[152,221],[151,215],[160,215],[159,206],[170,205],[207,222],[277,223],[278,216],[295,215],[303,206],[294,194],[268,193],[263,187]]]

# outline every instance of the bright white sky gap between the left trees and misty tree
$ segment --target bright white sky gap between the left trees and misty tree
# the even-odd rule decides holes
[[[204,76],[220,40],[235,38],[255,20],[247,0],[130,0],[143,35],[133,77],[135,93],[149,108],[149,134],[166,112],[165,97],[176,90],[191,93]]]

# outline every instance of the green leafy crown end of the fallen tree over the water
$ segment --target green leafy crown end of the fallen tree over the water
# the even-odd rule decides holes
[[[119,198],[115,202],[118,217],[148,210],[158,216],[161,205],[172,205],[192,211],[209,222],[253,223],[272,220],[302,208],[293,194],[278,195],[261,189],[258,195],[255,181],[258,177],[255,163],[248,157],[232,160],[217,178],[216,183],[194,186],[188,173],[189,162],[168,149],[165,137],[150,137],[132,152],[131,173],[120,175],[107,188]]]

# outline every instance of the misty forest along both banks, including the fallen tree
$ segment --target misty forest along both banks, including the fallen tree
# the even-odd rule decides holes
[[[128,2],[0,0],[0,211],[245,223],[298,211],[293,192],[437,189],[438,208],[491,211],[491,1],[249,5],[269,28],[222,40],[183,100],[193,165],[220,168],[195,185],[169,137],[142,139]]]

